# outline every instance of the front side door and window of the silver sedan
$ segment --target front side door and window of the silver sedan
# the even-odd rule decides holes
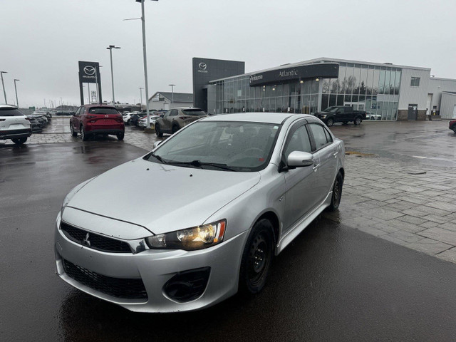
[[[282,160],[286,160],[293,151],[313,153],[306,122],[297,123],[294,128],[291,128],[282,152]],[[315,165],[318,165],[316,155],[314,155],[314,166],[296,167],[285,172],[284,234],[316,207],[318,193],[315,187],[317,180]]]

